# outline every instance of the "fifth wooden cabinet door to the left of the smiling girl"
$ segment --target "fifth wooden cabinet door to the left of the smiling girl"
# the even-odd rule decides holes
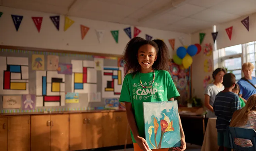
[[[69,150],[69,114],[51,115],[51,151]]]

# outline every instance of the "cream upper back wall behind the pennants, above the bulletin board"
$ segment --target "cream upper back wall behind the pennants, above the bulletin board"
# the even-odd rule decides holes
[[[3,12],[3,15],[0,18],[0,45],[121,55],[124,51],[125,45],[130,40],[123,31],[124,28],[129,27],[130,25],[69,16],[70,19],[75,21],[75,23],[64,32],[64,16],[61,16],[60,18],[60,29],[57,31],[52,21],[49,19],[49,16],[56,14],[20,10],[2,6],[0,6],[0,10]],[[24,16],[18,32],[15,30],[10,14]],[[43,17],[40,33],[38,33],[36,26],[31,19],[32,16]],[[81,39],[80,24],[90,27],[87,35],[84,37],[84,40]],[[191,43],[190,34],[150,29],[145,27],[137,28],[141,30],[141,33],[138,35],[140,37],[145,38],[145,34],[149,34],[153,36],[153,39],[163,39],[169,47],[171,55],[173,51],[170,47],[168,39],[176,39],[176,48],[181,46],[180,42],[178,41],[178,37],[184,37],[185,45],[189,45]],[[101,44],[98,42],[95,29],[105,30]],[[112,37],[110,32],[111,30],[119,30],[118,44],[116,44],[114,38]]]

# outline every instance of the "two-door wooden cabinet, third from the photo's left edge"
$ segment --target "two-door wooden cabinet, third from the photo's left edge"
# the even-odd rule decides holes
[[[102,147],[102,113],[70,114],[70,150]]]

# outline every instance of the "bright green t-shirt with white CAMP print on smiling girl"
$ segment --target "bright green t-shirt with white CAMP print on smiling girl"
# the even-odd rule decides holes
[[[138,128],[140,137],[145,138],[144,118],[142,102],[158,102],[168,101],[172,97],[180,96],[177,91],[171,75],[165,70],[155,70],[155,82],[152,88],[142,88],[140,84],[140,77],[143,86],[151,86],[153,82],[154,72],[139,73],[135,76],[130,73],[124,78],[122,91],[120,95],[120,102],[130,102],[134,110],[134,117]],[[133,143],[133,134],[131,132]]]

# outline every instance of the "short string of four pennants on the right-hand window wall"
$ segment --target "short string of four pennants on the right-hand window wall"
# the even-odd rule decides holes
[[[241,23],[245,26],[245,28],[247,29],[247,31],[249,31],[249,25],[250,25],[250,20],[249,20],[249,16],[247,16],[246,18],[244,18],[243,20],[241,20]],[[232,38],[232,32],[233,32],[233,26],[227,27],[225,29],[227,36],[229,38],[229,40],[231,41]],[[217,36],[218,36],[218,31],[217,32],[212,32],[212,39],[213,39],[213,43],[215,43]],[[199,39],[200,39],[200,45],[202,44],[204,37],[205,37],[206,33],[199,33]]]

